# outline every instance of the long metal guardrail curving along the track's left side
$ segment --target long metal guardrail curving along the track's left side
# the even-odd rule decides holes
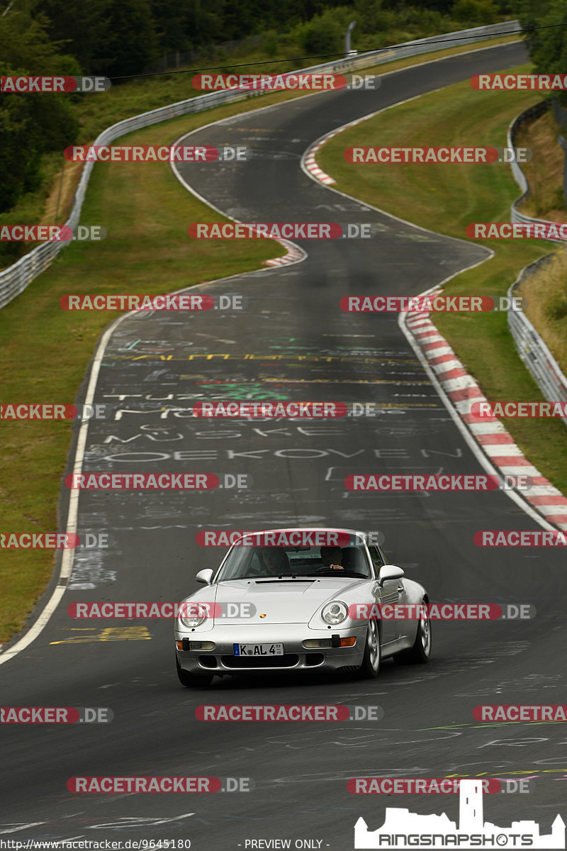
[[[507,32],[519,28],[519,21],[508,20],[500,24],[490,24],[489,26],[476,26],[468,30],[457,30],[455,32],[445,32],[440,36],[431,36],[427,38],[419,38],[416,41],[404,42],[396,44],[389,49],[371,50],[365,54],[349,56],[342,60],[333,60],[325,62],[322,65],[310,66],[309,68],[300,69],[302,73],[315,73],[317,71],[358,71],[361,68],[381,65],[384,62],[391,62],[395,59],[402,59],[405,56],[417,56],[422,53],[430,53],[434,50],[442,49],[443,42],[447,42],[448,46],[458,47],[462,44],[471,43],[471,41],[480,41],[483,38],[496,37],[502,32]],[[103,130],[94,140],[93,145],[108,145],[110,142],[118,139],[127,133],[132,133],[133,130],[139,130],[144,127],[150,127],[151,124],[156,124],[162,121],[168,121],[171,118],[177,118],[181,115],[187,115],[191,112],[200,112],[207,109],[212,109],[213,106],[220,106],[225,103],[233,103],[236,100],[247,100],[248,98],[258,97],[262,92],[241,92],[230,89],[224,89],[219,92],[211,92],[209,94],[201,94],[197,97],[188,100],[180,100],[178,103],[161,106],[158,109],[149,112],[142,112],[140,115],[135,115],[131,118],[126,118],[124,121],[119,121],[112,124],[111,127]],[[82,169],[81,180],[77,186],[77,191],[73,200],[71,214],[65,225],[71,227],[75,233],[75,229],[79,223],[81,215],[82,202],[84,201],[88,180],[93,170],[94,163],[85,163]],[[17,295],[26,289],[31,281],[40,275],[51,264],[54,257],[60,252],[61,248],[70,243],[49,242],[33,248],[28,254],[25,254],[20,260],[12,266],[8,266],[3,271],[0,271],[0,309],[5,307]]]

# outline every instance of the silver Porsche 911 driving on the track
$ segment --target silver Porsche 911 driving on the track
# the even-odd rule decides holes
[[[175,620],[177,671],[188,688],[255,671],[376,677],[389,656],[427,662],[431,653],[421,606],[427,591],[388,564],[363,532],[246,533],[216,573],[201,570],[196,580],[205,587],[184,599]]]

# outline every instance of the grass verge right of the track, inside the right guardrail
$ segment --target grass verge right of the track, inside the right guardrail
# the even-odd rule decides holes
[[[526,71],[528,66],[514,69]],[[540,100],[537,93],[479,92],[458,83],[395,106],[338,134],[317,162],[337,189],[417,225],[465,237],[473,221],[509,221],[518,197],[504,164],[352,164],[350,146],[462,146],[505,144],[511,119]],[[504,295],[520,269],[553,250],[536,240],[481,241],[495,256],[445,285],[447,294]],[[434,322],[490,400],[541,399],[517,355],[505,314],[438,313]],[[567,493],[567,432],[561,420],[502,420],[524,454]]]

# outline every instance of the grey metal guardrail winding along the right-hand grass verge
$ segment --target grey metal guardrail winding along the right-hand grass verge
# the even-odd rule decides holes
[[[519,128],[524,123],[539,117],[547,111],[550,103],[551,100],[542,100],[536,106],[530,106],[530,109],[520,112],[519,116],[514,118],[507,132],[508,147],[514,145]],[[511,220],[515,222],[541,222],[548,225],[549,222],[547,220],[532,219],[530,216],[520,213],[517,209],[517,205],[529,196],[530,186],[518,163],[511,163],[511,166],[516,183],[518,183],[522,190],[522,195],[512,203]],[[553,242],[564,243],[564,240],[553,240]],[[525,266],[520,271],[514,283],[508,288],[508,298],[512,298],[525,277],[539,271],[541,266],[546,266],[552,258],[553,254],[546,254],[545,257],[540,257],[535,262],[530,263],[529,266]],[[508,328],[510,329],[510,334],[513,336],[519,357],[521,357],[525,367],[529,369],[532,378],[536,381],[547,402],[567,402],[567,378],[561,371],[551,351],[549,351],[546,344],[541,340],[536,328],[534,328],[530,320],[521,311],[508,311],[507,320]],[[561,419],[567,425],[567,417],[562,417]]]

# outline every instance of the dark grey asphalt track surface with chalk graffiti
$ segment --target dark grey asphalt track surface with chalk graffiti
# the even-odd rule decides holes
[[[502,826],[534,819],[549,831],[564,803],[564,728],[483,726],[473,707],[563,701],[564,556],[473,544],[483,528],[539,528],[506,494],[351,494],[343,487],[353,472],[482,471],[395,315],[347,314],[338,301],[417,294],[479,262],[485,250],[339,197],[299,168],[306,147],[343,123],[524,56],[518,44],[456,56],[390,74],[376,92],[292,100],[191,134],[190,144],[254,151],[250,163],[182,169],[225,213],[243,221],[371,221],[378,235],[305,240],[302,263],[201,287],[245,295],[246,310],[138,314],[116,326],[94,400],[110,404],[115,419],[89,426],[83,469],[247,473],[253,483],[238,492],[82,492],[77,531],[108,533],[110,546],[77,551],[47,627],[2,665],[2,705],[108,706],[114,720],[3,725],[9,768],[0,838],[174,838],[203,849],[289,838],[292,847],[310,839],[348,849],[358,817],[375,829],[385,805],[458,817],[457,796],[354,796],[349,778],[447,774],[534,778],[528,795],[485,797],[485,818]],[[165,411],[248,398],[372,401],[379,414],[309,424]],[[65,518],[69,492],[61,494]],[[200,529],[302,524],[380,530],[391,561],[421,580],[433,600],[532,603],[537,617],[434,624],[429,665],[384,662],[377,680],[225,677],[193,692],[175,676],[171,621],[66,614],[79,601],[181,599],[196,589],[196,570],[214,567],[224,552],[196,545]],[[195,708],[203,703],[380,705],[384,717],[199,722]],[[73,776],[108,775],[247,777],[255,789],[230,796],[66,791]]]

